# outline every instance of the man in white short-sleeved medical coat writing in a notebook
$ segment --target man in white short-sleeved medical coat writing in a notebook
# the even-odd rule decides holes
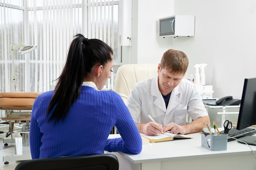
[[[188,65],[184,52],[167,50],[158,64],[158,74],[133,86],[127,106],[140,133],[196,133],[202,131],[205,122],[210,124],[195,85],[183,78]],[[191,123],[186,123],[187,113],[193,120]]]

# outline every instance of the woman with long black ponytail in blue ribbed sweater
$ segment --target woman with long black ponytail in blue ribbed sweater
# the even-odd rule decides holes
[[[113,68],[113,50],[77,34],[55,90],[40,94],[30,123],[32,159],[121,151],[138,154],[142,141],[121,97],[101,91]],[[108,139],[113,126],[120,138]]]

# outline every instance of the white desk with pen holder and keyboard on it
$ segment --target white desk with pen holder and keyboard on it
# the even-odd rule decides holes
[[[201,134],[189,134],[193,139],[145,144],[138,155],[113,154],[120,170],[256,170],[256,159],[247,145],[231,141],[227,150],[211,151],[201,146]],[[256,146],[251,147],[256,152]]]

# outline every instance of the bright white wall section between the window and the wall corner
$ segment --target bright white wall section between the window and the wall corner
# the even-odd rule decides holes
[[[122,48],[124,63],[160,62],[172,39],[158,36],[158,19],[173,15],[173,5],[173,0],[132,0],[132,46]]]

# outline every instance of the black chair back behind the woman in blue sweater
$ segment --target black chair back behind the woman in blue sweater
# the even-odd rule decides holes
[[[113,154],[32,159],[20,162],[15,170],[119,170]]]

